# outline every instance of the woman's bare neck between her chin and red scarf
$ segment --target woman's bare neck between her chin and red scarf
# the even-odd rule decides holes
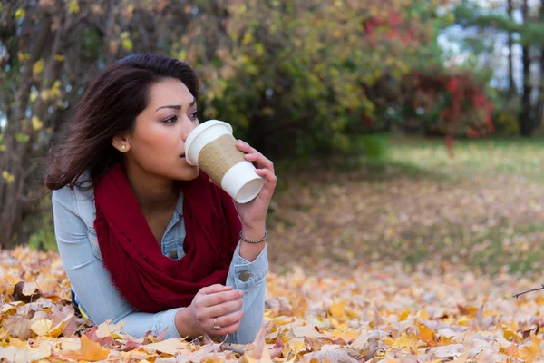
[[[125,164],[127,179],[144,215],[169,211],[176,205],[179,188],[175,181]]]

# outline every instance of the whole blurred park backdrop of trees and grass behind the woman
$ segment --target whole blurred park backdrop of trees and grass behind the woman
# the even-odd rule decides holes
[[[276,163],[277,270],[539,269],[544,0],[3,0],[0,248],[55,248],[40,158],[141,52]]]

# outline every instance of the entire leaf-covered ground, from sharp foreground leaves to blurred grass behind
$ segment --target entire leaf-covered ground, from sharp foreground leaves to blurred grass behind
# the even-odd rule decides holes
[[[253,344],[135,339],[76,319],[54,252],[0,251],[0,361],[544,360],[537,141],[392,140],[278,169],[267,326]]]

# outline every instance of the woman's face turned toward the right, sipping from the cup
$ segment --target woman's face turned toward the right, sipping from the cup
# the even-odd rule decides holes
[[[151,85],[149,97],[127,137],[130,167],[172,180],[195,179],[199,168],[185,160],[185,141],[199,125],[194,96],[180,80],[167,78]]]

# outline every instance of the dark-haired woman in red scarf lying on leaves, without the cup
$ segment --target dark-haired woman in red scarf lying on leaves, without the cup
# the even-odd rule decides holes
[[[238,204],[186,162],[198,97],[189,66],[160,55],[98,74],[50,154],[55,235],[74,307],[94,324],[246,344],[263,319],[277,179],[272,162],[238,141],[265,179],[254,201]]]

